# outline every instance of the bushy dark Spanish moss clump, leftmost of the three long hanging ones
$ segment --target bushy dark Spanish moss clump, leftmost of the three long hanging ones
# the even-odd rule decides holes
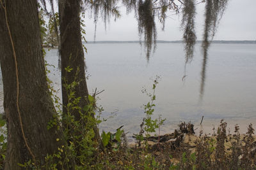
[[[156,24],[154,21],[154,11],[152,1],[139,1],[138,6],[138,31],[141,38],[144,34],[145,47],[147,48],[147,60],[149,60],[152,45],[156,49]]]

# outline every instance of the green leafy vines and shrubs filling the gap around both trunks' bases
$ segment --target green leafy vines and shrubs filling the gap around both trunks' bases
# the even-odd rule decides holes
[[[47,69],[49,66],[49,64],[45,63],[46,74],[50,73],[49,69]],[[71,72],[73,69],[72,67],[66,67],[65,71]],[[66,83],[63,85],[67,90],[67,106],[60,104],[60,98],[58,98],[56,94],[57,91],[53,89],[52,81],[47,78],[52,101],[58,110],[58,114],[54,115],[50,122],[48,122],[47,129],[51,129],[54,126],[63,129],[63,138],[56,139],[56,141],[60,141],[63,145],[60,148],[56,148],[55,153],[45,157],[45,164],[43,166],[38,167],[31,164],[31,162],[25,162],[24,164],[20,164],[20,166],[27,168],[33,167],[35,169],[58,169],[59,167],[70,169],[74,167],[74,162],[76,162],[76,169],[90,167],[94,159],[93,154],[99,149],[99,143],[95,138],[93,129],[97,127],[100,121],[97,120],[99,117],[94,118],[96,108],[93,96],[84,96],[88,100],[88,104],[83,106],[83,108],[79,106],[81,97],[76,97],[75,91],[79,84],[79,81],[77,81],[78,73],[79,69],[77,69],[74,81],[70,84]],[[63,79],[65,80],[65,78]],[[67,112],[63,113],[62,108],[65,108]],[[102,110],[103,109],[100,108],[99,111]],[[77,111],[80,115],[79,120],[76,120],[73,115],[73,113]]]

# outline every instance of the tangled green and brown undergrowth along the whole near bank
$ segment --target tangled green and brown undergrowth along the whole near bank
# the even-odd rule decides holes
[[[79,69],[78,69],[79,70]],[[68,67],[66,71],[72,71]],[[47,70],[47,72],[49,72]],[[78,74],[78,73],[77,73]],[[77,75],[76,74],[76,75]],[[49,80],[48,80],[49,81]],[[78,106],[81,97],[75,97],[75,87],[79,81],[74,78],[71,85],[64,85],[68,92],[67,106],[61,106],[56,91],[49,89],[52,101],[58,114],[48,124],[48,129],[57,126],[63,131],[63,138],[56,139],[63,143],[56,152],[45,157],[41,166],[28,162],[20,162],[24,169],[256,169],[256,140],[252,124],[248,125],[246,134],[239,134],[239,126],[235,126],[234,134],[227,134],[227,123],[221,120],[218,130],[212,136],[200,132],[194,135],[193,124],[181,122],[172,134],[160,136],[164,119],[154,119],[154,101],[156,100],[157,77],[153,82],[152,93],[143,90],[150,97],[144,105],[145,117],[141,122],[141,130],[135,134],[136,143],[128,145],[124,129],[119,127],[115,132],[102,131],[101,138],[95,136],[95,127],[102,120],[94,118],[97,108],[95,97],[88,96],[88,105]],[[67,114],[63,115],[61,107]],[[78,111],[80,119],[75,120],[73,111]],[[0,168],[3,168],[6,154],[6,122],[0,120]],[[6,130],[5,130],[6,132]],[[3,135],[2,135],[3,134]],[[150,136],[155,134],[154,136]],[[194,138],[194,140],[192,140]],[[150,141],[149,139],[154,139]],[[187,140],[188,139],[188,140]],[[189,142],[188,142],[189,141]]]

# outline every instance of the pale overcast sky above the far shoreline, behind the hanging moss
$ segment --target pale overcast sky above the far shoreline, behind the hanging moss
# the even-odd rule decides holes
[[[202,39],[204,29],[205,3],[196,6],[196,36]],[[138,40],[138,24],[134,13],[126,15],[125,8],[121,10],[122,17],[116,22],[111,19],[105,31],[104,23],[97,24],[96,41],[136,41]],[[157,39],[174,41],[182,39],[180,32],[180,16],[170,15],[166,19],[165,30],[157,23]],[[93,20],[86,18],[86,40],[93,41]],[[227,10],[221,19],[215,40],[256,40],[256,0],[230,0]]]

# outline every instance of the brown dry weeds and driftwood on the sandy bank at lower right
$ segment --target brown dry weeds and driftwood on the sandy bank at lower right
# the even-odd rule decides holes
[[[195,135],[193,124],[182,122],[172,134],[144,138],[113,151],[102,152],[98,160],[102,169],[256,169],[256,138],[252,124],[246,134],[227,134],[227,123],[221,120],[211,136]]]

